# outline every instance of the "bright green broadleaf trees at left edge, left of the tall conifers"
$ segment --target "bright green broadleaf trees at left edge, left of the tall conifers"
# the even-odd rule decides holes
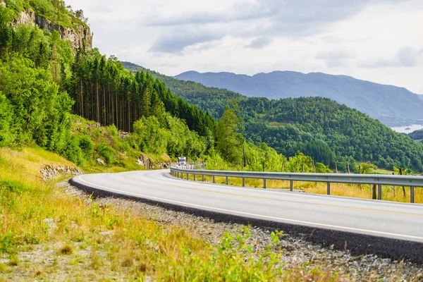
[[[61,152],[69,128],[68,111],[72,101],[59,93],[49,71],[32,68],[32,62],[19,54],[9,53],[0,62],[0,92],[13,111],[15,142],[35,140],[38,145]]]

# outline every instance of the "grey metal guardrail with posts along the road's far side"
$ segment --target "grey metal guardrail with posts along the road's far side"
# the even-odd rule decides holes
[[[290,181],[290,191],[293,191],[293,181],[305,182],[324,182],[327,183],[327,195],[331,195],[331,183],[352,183],[352,184],[370,184],[377,185],[378,200],[382,200],[382,185],[407,186],[410,187],[410,202],[415,202],[415,187],[423,187],[422,176],[391,176],[384,174],[339,174],[339,173],[276,173],[276,172],[255,172],[255,171],[207,171],[199,169],[186,169],[180,167],[171,167],[171,174],[178,178],[186,179],[192,174],[194,180],[196,176],[212,176],[215,183],[216,176],[226,177],[226,185],[228,178],[243,178],[243,187],[245,187],[245,178],[263,179],[264,188],[266,188],[266,180],[288,180]]]

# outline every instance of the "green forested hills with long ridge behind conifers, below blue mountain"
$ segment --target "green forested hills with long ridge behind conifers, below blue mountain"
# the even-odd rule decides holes
[[[300,151],[331,168],[336,162],[340,171],[347,170],[347,161],[353,166],[356,162],[372,162],[382,168],[423,171],[421,143],[330,99],[247,98],[229,90],[177,80],[135,64],[123,65],[131,71],[148,71],[163,80],[173,93],[216,118],[223,114],[226,104],[238,103],[246,140],[255,145],[265,142],[287,157]]]

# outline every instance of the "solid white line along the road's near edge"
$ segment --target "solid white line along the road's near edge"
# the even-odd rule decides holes
[[[117,189],[105,187],[105,186],[102,186],[102,185],[97,185],[97,184],[90,183],[88,181],[83,180],[82,176],[78,176],[78,178],[82,182],[87,183],[89,185],[97,186],[99,188],[104,188],[104,189],[110,190],[110,191],[123,192],[123,195],[133,195],[133,196],[143,197],[143,198],[150,199],[150,200],[158,200],[158,201],[170,202],[170,203],[174,203],[174,204],[183,204],[183,205],[187,205],[187,206],[190,206],[190,207],[197,207],[197,208],[201,208],[201,209],[212,209],[212,210],[215,210],[215,211],[228,212],[228,213],[231,213],[231,214],[242,214],[242,215],[245,215],[245,216],[255,216],[256,218],[259,217],[259,218],[262,218],[262,219],[273,219],[273,220],[277,220],[277,221],[288,221],[288,222],[292,222],[292,223],[300,223],[300,224],[303,224],[303,225],[321,226],[321,227],[324,227],[324,228],[343,229],[344,231],[356,231],[356,232],[373,233],[373,234],[394,236],[394,237],[401,237],[401,238],[408,238],[408,239],[415,239],[415,240],[423,240],[423,237],[418,237],[418,236],[413,236],[413,235],[403,235],[403,234],[388,233],[388,232],[382,232],[382,231],[372,231],[372,230],[367,230],[367,229],[352,228],[352,227],[346,227],[346,226],[336,226],[336,225],[331,225],[331,224],[315,223],[315,222],[310,222],[310,221],[300,221],[300,220],[296,220],[296,219],[284,219],[282,217],[276,217],[276,216],[264,216],[262,214],[252,214],[252,213],[249,213],[249,212],[239,212],[239,211],[234,211],[234,210],[231,210],[231,209],[220,209],[220,208],[217,208],[217,207],[202,206],[200,204],[191,204],[191,203],[187,203],[187,202],[179,202],[179,201],[175,201],[175,200],[168,200],[168,199],[164,199],[164,198],[160,198],[160,197],[152,197],[152,196],[137,194],[137,193],[133,193],[133,192],[117,190]]]

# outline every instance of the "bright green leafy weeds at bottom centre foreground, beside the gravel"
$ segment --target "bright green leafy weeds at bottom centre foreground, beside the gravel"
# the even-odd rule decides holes
[[[188,247],[185,255],[168,267],[163,280],[175,281],[273,281],[282,272],[278,264],[281,254],[272,252],[282,233],[271,233],[272,244],[264,252],[253,251],[250,231],[232,235],[226,232],[217,250],[207,260],[195,257]]]

